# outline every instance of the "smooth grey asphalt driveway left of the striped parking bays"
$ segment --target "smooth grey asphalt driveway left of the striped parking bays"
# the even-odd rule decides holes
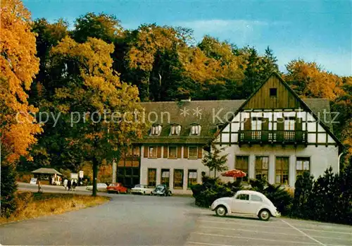
[[[0,226],[1,245],[184,245],[199,209],[190,197],[112,195],[111,202]]]

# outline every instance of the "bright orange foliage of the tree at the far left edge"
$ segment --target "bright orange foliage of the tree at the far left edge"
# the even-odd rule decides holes
[[[32,79],[39,70],[30,12],[19,0],[1,1],[0,29],[0,124],[1,157],[14,163],[28,156],[28,147],[41,132],[30,114],[37,109],[27,102]]]

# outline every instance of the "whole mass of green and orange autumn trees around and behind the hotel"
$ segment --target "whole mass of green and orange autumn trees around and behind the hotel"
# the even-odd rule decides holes
[[[119,146],[145,133],[146,125],[116,126],[110,129],[110,138],[103,137],[106,125],[77,124],[72,128],[65,117],[71,111],[94,111],[108,105],[109,109],[123,112],[134,109],[139,99],[141,102],[246,99],[272,71],[280,73],[300,97],[329,99],[332,111],[339,112],[334,134],[346,146],[342,166],[351,163],[351,76],[335,75],[318,63],[303,60],[287,63],[287,71],[280,72],[275,47],[258,51],[256,47],[237,47],[210,36],[197,43],[192,30],[184,27],[144,24],[127,30],[115,16],[87,13],[77,17],[70,30],[63,19],[54,23],[44,18],[31,20],[25,8],[16,11],[25,16],[18,25],[10,23],[18,15],[1,13],[1,28],[8,30],[2,34],[6,42],[1,44],[1,63],[6,67],[13,59],[9,68],[1,69],[1,95],[17,90],[15,99],[1,99],[1,120],[6,122],[4,118],[18,109],[63,113],[55,127],[51,118],[44,125],[26,125],[27,131],[21,128],[15,132],[20,129],[18,126],[1,125],[4,132],[1,159],[10,163],[19,161],[19,171],[42,166],[92,170],[88,168],[91,162],[104,163],[106,146],[118,149],[108,141],[112,133],[116,133],[114,140]],[[23,26],[25,31],[21,29]],[[18,46],[19,39],[27,43]],[[13,48],[15,44],[17,47]],[[10,54],[11,49],[18,51]],[[24,58],[13,58],[24,53]],[[28,75],[15,70],[12,67],[15,63],[25,67]],[[13,80],[6,80],[13,74]],[[8,81],[13,85],[8,85]],[[8,110],[8,102],[16,100],[22,102],[20,106]],[[25,109],[21,108],[23,105]],[[9,127],[7,132],[6,127]]]

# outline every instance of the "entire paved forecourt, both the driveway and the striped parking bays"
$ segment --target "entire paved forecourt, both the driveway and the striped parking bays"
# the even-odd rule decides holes
[[[54,188],[53,188],[54,189]],[[57,192],[60,192],[58,190]],[[65,192],[65,191],[63,191]],[[77,192],[77,191],[76,191]],[[89,192],[85,194],[89,195]],[[1,245],[352,245],[352,227],[214,216],[191,197],[109,195],[111,202],[0,226]]]

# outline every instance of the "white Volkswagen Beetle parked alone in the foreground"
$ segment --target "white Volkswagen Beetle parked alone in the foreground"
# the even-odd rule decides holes
[[[218,216],[226,214],[256,215],[263,221],[268,221],[270,216],[280,216],[268,197],[253,190],[239,190],[233,197],[216,199],[210,208]]]

